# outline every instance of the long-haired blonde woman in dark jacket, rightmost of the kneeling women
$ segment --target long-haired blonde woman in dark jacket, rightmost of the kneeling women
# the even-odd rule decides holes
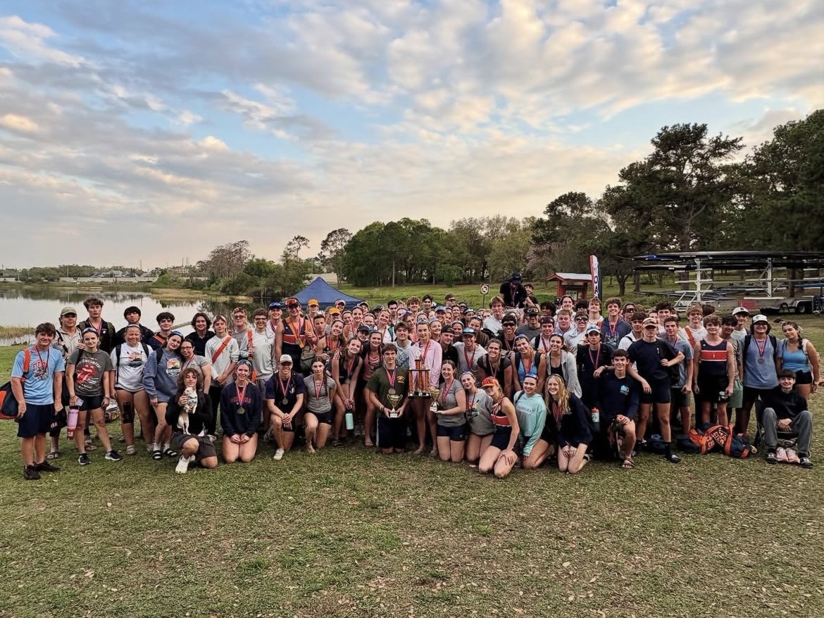
[[[559,376],[549,377],[546,394],[550,406],[547,425],[558,443],[558,469],[574,475],[586,465],[587,447],[592,442],[587,410]]]

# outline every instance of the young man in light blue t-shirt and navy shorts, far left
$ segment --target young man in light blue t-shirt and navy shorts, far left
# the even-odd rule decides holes
[[[52,347],[56,330],[49,322],[35,328],[35,344],[21,350],[12,365],[12,395],[17,402],[17,437],[23,478],[39,480],[40,472],[59,471],[46,461],[46,433],[61,410],[63,354]]]

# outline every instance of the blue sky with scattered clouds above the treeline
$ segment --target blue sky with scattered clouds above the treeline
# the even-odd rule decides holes
[[[3,0],[5,267],[180,265],[593,199],[824,104],[820,0]]]

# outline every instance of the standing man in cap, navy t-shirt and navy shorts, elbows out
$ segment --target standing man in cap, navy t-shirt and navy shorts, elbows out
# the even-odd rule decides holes
[[[644,392],[641,396],[639,441],[646,442],[644,435],[654,405],[666,449],[664,459],[671,463],[678,463],[681,458],[672,452],[672,430],[670,428],[670,398],[672,395],[669,368],[682,363],[684,355],[666,341],[658,339],[658,321],[648,317],[644,320],[644,339],[630,345],[627,356],[631,363],[636,363],[639,374],[644,377],[650,387],[650,392]]]

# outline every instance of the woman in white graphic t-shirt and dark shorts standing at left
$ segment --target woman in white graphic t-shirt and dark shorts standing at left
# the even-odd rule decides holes
[[[125,343],[115,346],[111,351],[111,363],[115,371],[111,372],[110,392],[115,393],[115,400],[120,409],[120,428],[126,441],[126,455],[135,455],[134,447],[134,413],[138,413],[143,440],[147,444],[154,442],[155,419],[149,405],[149,396],[143,388],[143,368],[151,350],[141,338],[143,331],[137,324],[129,324],[124,329]]]

